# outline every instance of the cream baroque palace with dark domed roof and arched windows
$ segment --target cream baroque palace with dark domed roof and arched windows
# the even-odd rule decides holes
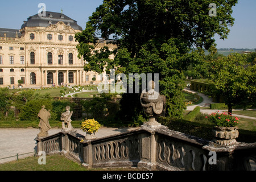
[[[96,72],[85,72],[77,57],[75,34],[82,28],[63,13],[46,11],[24,21],[20,30],[0,28],[0,86],[26,88],[88,85]],[[102,41],[99,47],[106,46]]]

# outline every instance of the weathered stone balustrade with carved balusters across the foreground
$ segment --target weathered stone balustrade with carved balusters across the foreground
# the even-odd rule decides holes
[[[81,142],[81,139],[84,141]],[[142,126],[133,131],[87,140],[76,132],[37,138],[38,152],[63,153],[88,168],[138,167],[148,170],[251,170],[256,143],[224,147],[208,140]]]

